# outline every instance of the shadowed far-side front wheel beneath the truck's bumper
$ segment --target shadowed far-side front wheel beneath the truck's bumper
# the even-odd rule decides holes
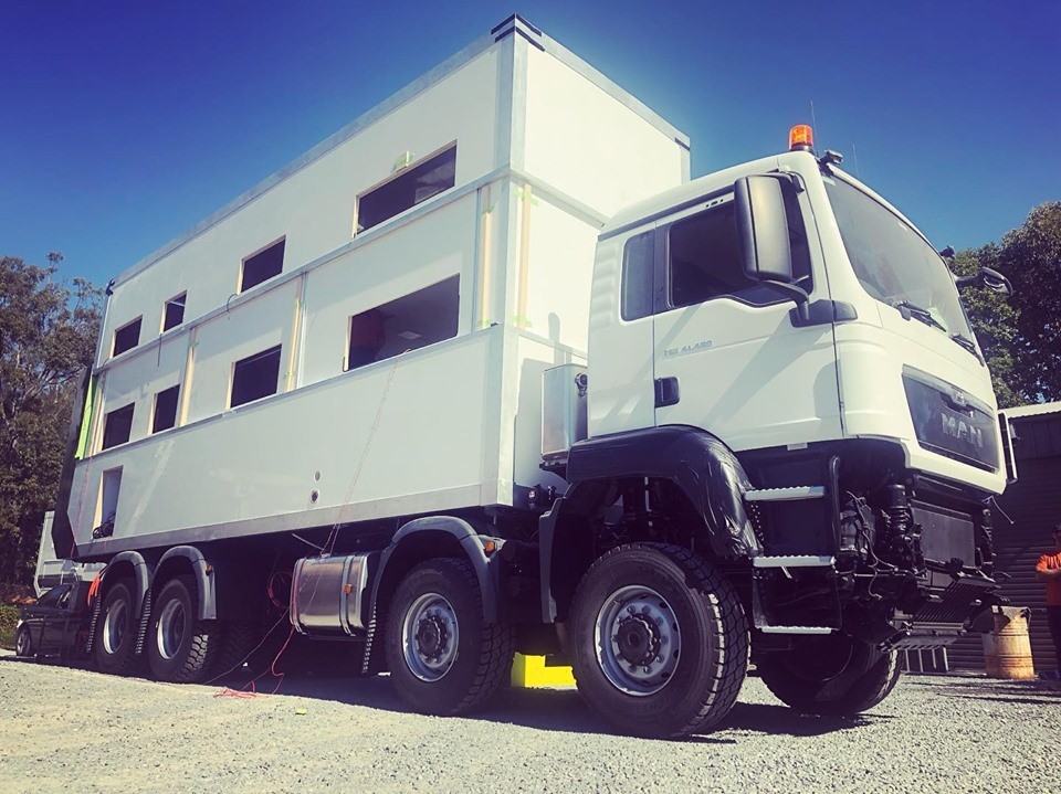
[[[781,702],[808,714],[851,717],[881,702],[899,681],[899,654],[845,634],[798,636],[787,652],[756,659]]]

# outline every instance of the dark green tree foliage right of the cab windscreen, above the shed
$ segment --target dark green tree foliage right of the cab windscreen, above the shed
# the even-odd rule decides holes
[[[1061,201],[1034,208],[1000,244],[963,251],[953,269],[971,275],[981,266],[1016,289],[1008,299],[976,288],[962,294],[999,406],[1061,400]]]

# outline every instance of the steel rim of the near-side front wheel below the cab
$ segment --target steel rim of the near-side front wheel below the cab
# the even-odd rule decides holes
[[[666,599],[651,587],[616,590],[597,613],[593,633],[600,670],[619,691],[655,695],[674,677],[681,625]]]

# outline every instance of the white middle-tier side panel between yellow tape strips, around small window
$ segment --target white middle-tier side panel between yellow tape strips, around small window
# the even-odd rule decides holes
[[[288,282],[276,289],[265,290],[253,300],[199,326],[188,391],[188,423],[228,410],[233,364],[276,345],[283,346],[277,385],[283,391],[284,373],[291,360],[291,327],[297,288],[297,282]]]

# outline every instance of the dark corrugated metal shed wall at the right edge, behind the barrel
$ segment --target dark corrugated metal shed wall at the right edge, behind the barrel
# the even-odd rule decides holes
[[[1013,417],[1018,480],[998,498],[1012,526],[995,510],[997,570],[1011,579],[1002,594],[1013,606],[1030,606],[1031,652],[1036,670],[1057,667],[1046,617],[1046,590],[1034,576],[1039,555],[1050,551],[1054,525],[1061,523],[1061,415]],[[980,635],[964,637],[949,649],[955,669],[983,669]]]

